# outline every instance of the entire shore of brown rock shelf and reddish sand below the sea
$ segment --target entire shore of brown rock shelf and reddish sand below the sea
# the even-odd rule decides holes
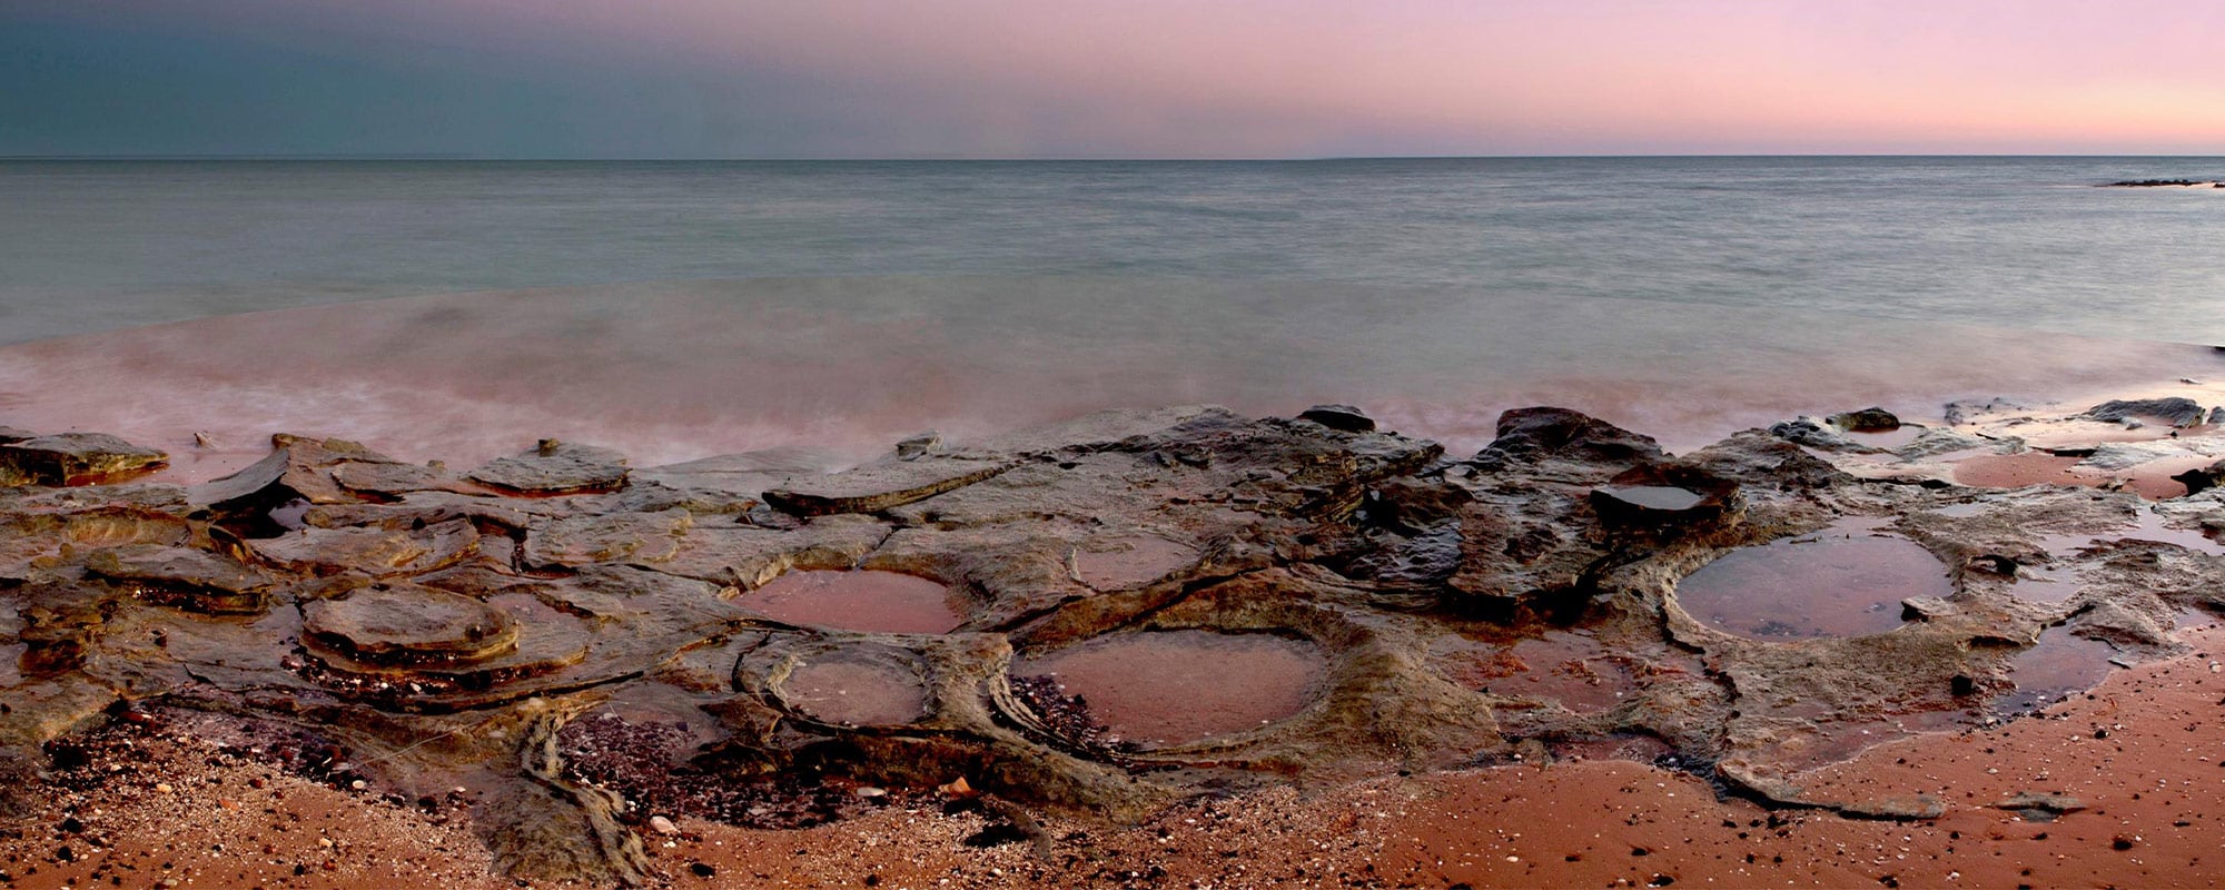
[[[91,441],[96,485],[0,494],[0,870],[2198,883],[2221,394],[2123,394],[1689,452],[1104,412],[834,474],[280,438],[180,485]]]

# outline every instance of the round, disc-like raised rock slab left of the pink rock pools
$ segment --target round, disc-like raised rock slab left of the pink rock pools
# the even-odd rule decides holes
[[[369,587],[300,607],[309,643],[380,665],[483,661],[518,645],[510,612],[421,585]]]

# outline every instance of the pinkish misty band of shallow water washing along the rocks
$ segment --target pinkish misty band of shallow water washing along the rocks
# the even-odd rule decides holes
[[[1095,291],[1050,300],[1066,287]],[[178,481],[254,461],[274,432],[456,465],[545,436],[636,465],[768,447],[859,461],[921,429],[1175,403],[1355,403],[1455,454],[1489,443],[1502,409],[1564,405],[1689,449],[1796,414],[1922,418],[1949,398],[2076,396],[2218,363],[2187,345],[1635,300],[1228,309],[1275,287],[692,283],[285,309],[4,347],[0,423],[156,445]],[[1121,305],[1128,291],[1148,296]]]

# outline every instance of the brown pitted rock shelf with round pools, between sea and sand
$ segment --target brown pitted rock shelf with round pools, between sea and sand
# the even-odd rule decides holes
[[[1865,481],[1762,432],[1671,456],[1549,407],[1497,432],[1446,456],[1351,407],[1181,407],[908,441],[839,474],[543,443],[461,476],[278,436],[198,487],[4,487],[0,770],[36,774],[116,714],[202,714],[323,739],[394,794],[465,788],[505,868],[596,883],[643,879],[650,814],[567,765],[590,712],[721,794],[963,779],[1133,819],[1642,736],[1773,805],[1927,819],[1938,801],[1809,799],[1793,779],[2011,710],[2045,639],[2163,654],[2225,599],[2196,532],[2225,518],[2216,490],[2152,512]],[[1838,527],[1909,543],[1945,596],[1880,601],[1889,630],[1840,636],[1740,634],[1678,596],[1724,554]],[[930,596],[899,603],[917,585],[877,574]],[[921,607],[950,630],[870,630]],[[1121,659],[1166,688],[1077,688]],[[1248,699],[1266,688],[1288,701]],[[1213,703],[1262,716],[1184,721]]]

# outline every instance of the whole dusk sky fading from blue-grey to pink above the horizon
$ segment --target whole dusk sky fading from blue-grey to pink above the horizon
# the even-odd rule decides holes
[[[0,0],[0,156],[2225,154],[2225,2]]]

